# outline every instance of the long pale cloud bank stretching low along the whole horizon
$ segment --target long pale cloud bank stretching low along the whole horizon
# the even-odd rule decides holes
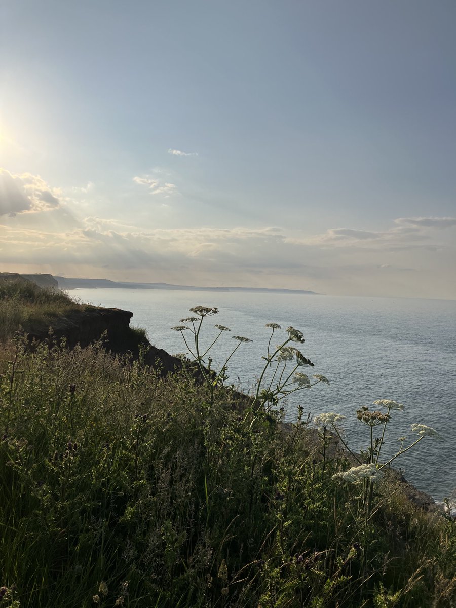
[[[135,183],[148,189],[162,186],[151,176],[137,177]],[[65,209],[58,212],[62,219]],[[279,227],[148,229],[131,224],[133,216],[126,221],[89,216],[78,225],[68,221],[66,228],[63,221],[49,223],[44,214],[25,218],[27,227],[16,220],[0,226],[5,270],[26,272],[35,264],[34,272],[113,280],[456,297],[448,280],[454,247],[444,245],[441,232],[432,227],[392,222],[386,230],[332,228],[295,238],[299,232],[291,237]]]

